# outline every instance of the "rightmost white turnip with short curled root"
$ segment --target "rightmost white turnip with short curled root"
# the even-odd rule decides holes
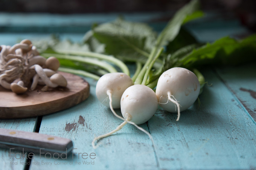
[[[159,77],[155,93],[160,106],[171,113],[189,108],[198,98],[200,83],[197,76],[185,68],[171,68]],[[169,102],[171,101],[171,102]]]

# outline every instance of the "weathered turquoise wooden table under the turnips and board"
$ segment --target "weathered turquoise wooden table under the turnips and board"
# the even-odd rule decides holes
[[[127,20],[148,22],[157,21],[163,15],[124,14]],[[117,14],[2,13],[0,44],[13,45],[21,39],[46,38],[52,33],[78,42],[91,23],[116,17]],[[248,33],[237,20],[209,18],[187,24],[200,41]],[[164,25],[162,22],[151,24],[156,29]],[[202,73],[209,85],[199,96],[200,106],[196,102],[183,111],[178,122],[176,114],[159,108],[148,122],[140,125],[151,133],[154,145],[148,135],[133,125],[126,125],[116,134],[100,140],[97,149],[91,146],[93,138],[115,129],[122,121],[97,100],[97,82],[85,78],[90,83],[90,96],[75,107],[41,117],[0,120],[0,128],[69,138],[75,148],[73,156],[55,159],[36,155],[29,161],[26,157],[10,156],[8,149],[0,149],[0,169],[256,169],[256,64],[208,68]],[[120,110],[117,113],[120,114]]]

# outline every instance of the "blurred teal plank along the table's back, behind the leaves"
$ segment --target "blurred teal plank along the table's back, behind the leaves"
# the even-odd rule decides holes
[[[164,12],[149,13],[109,13],[109,14],[0,14],[0,32],[6,33],[85,33],[91,29],[92,23],[105,23],[122,15],[129,21],[149,22],[159,20],[166,15]],[[103,17],[104,16],[104,17]],[[161,22],[158,24],[165,24]]]

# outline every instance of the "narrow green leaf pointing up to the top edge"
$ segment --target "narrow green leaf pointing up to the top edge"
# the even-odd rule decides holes
[[[174,40],[174,38],[178,35],[178,32],[180,31],[181,25],[184,22],[188,22],[192,19],[194,20],[195,14],[193,13],[196,12],[198,8],[199,1],[192,0],[179,11],[177,11],[172,20],[168,22],[166,27],[158,36],[156,45],[158,47],[163,47],[167,45],[170,41]],[[192,15],[193,17],[188,17],[189,15]]]

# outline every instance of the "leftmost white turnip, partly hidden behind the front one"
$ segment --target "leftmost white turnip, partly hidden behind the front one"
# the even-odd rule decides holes
[[[108,73],[99,78],[96,84],[96,96],[98,100],[112,110],[115,116],[122,119],[114,112],[114,108],[120,108],[120,100],[123,92],[133,85],[133,80],[121,72]]]

